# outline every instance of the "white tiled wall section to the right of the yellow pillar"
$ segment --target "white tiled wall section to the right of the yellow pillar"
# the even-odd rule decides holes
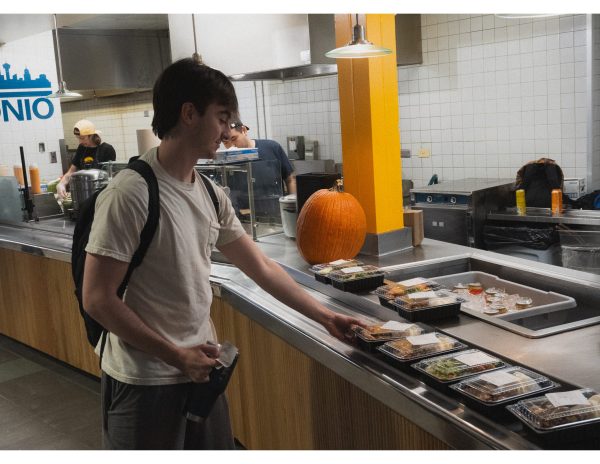
[[[513,178],[542,156],[586,177],[586,24],[423,15],[423,64],[398,68],[404,177]]]

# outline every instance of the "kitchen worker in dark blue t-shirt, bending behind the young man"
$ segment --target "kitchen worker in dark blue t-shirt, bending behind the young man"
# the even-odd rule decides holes
[[[285,183],[286,192],[288,195],[296,193],[296,176],[294,169],[283,151],[283,148],[275,140],[268,139],[251,139],[248,136],[250,129],[244,123],[236,120],[231,123],[231,135],[227,140],[223,140],[223,145],[226,148],[257,148],[258,157],[261,160],[272,161],[276,160],[279,163],[281,170],[281,179]]]

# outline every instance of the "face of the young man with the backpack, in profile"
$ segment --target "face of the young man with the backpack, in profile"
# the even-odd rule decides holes
[[[203,115],[198,113],[194,127],[202,158],[214,158],[221,141],[229,139],[231,112],[223,105],[208,105]]]

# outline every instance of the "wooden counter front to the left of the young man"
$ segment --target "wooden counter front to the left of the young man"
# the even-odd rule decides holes
[[[100,375],[79,315],[69,263],[0,249],[0,301],[1,333]]]

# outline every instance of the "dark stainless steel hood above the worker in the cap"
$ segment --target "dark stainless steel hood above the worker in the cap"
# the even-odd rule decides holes
[[[150,90],[171,63],[168,30],[59,28],[58,37],[63,78],[84,98]]]

